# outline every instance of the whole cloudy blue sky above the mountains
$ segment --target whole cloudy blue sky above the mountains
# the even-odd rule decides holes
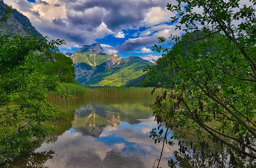
[[[174,0],[4,0],[30,19],[50,39],[66,39],[60,51],[72,52],[99,42],[108,54],[147,60],[161,53],[151,51],[158,36],[180,34],[170,25]]]

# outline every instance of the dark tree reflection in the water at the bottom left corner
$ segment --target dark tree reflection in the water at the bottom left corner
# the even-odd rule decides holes
[[[6,168],[49,168],[44,166],[48,159],[56,155],[53,150],[44,152],[32,152],[14,159]]]

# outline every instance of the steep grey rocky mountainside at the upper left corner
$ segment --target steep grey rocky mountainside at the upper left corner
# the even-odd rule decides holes
[[[0,0],[0,17],[4,16],[5,10],[8,8],[7,4],[4,4],[2,0]],[[22,13],[18,12],[16,9],[12,9],[11,14],[9,14],[9,18],[7,22],[0,22],[1,34],[14,33],[14,34],[26,34],[32,36],[38,36],[39,38],[43,38],[42,34],[40,34],[34,26],[32,26],[28,17],[24,16]]]

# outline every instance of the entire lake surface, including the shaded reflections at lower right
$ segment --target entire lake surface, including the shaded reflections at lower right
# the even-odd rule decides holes
[[[59,100],[54,103],[68,111],[67,119],[50,123],[59,127],[55,134],[32,154],[14,160],[8,168],[157,167],[162,143],[155,144],[149,137],[150,130],[157,126],[152,117],[154,98]],[[180,168],[229,168],[232,167],[232,152],[237,167],[255,167],[255,160],[238,159],[237,152],[215,146],[210,140],[203,153],[200,146],[189,149],[190,142],[193,146],[197,144],[190,136],[186,136],[184,145],[177,141],[173,146],[165,145],[159,166],[168,168],[168,160],[173,159],[175,166]]]

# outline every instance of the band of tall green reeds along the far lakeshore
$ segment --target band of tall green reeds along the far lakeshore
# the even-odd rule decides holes
[[[160,90],[151,95],[152,87],[101,87],[88,88],[82,85],[74,85],[70,83],[62,83],[60,91],[47,92],[49,99],[62,99],[70,95],[71,99],[82,98],[123,98],[123,97],[156,97],[160,94]]]

